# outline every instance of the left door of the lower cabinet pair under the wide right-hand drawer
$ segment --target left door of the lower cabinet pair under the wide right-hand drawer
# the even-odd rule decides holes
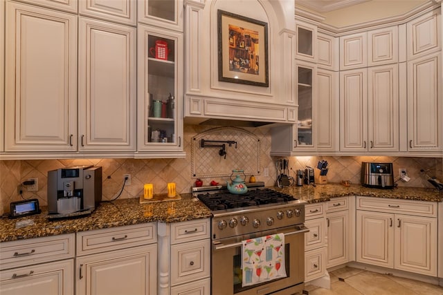
[[[393,218],[393,214],[357,210],[356,261],[394,267]]]

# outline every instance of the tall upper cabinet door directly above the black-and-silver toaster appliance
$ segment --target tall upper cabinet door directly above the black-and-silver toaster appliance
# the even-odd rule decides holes
[[[397,65],[368,68],[368,140],[370,151],[399,150]]]

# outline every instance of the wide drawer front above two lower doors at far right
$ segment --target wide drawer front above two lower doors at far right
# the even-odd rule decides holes
[[[370,210],[387,213],[402,213],[414,216],[437,217],[437,203],[414,201],[414,200],[398,200],[383,199],[358,196],[356,207],[360,210]]]

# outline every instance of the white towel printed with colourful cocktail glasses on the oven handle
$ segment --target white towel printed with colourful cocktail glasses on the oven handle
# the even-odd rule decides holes
[[[242,241],[242,287],[285,278],[284,234]]]

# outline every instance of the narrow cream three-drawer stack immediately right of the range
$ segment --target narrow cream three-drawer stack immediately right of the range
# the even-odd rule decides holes
[[[325,204],[316,203],[305,206],[305,283],[322,278],[326,274],[327,228]]]

